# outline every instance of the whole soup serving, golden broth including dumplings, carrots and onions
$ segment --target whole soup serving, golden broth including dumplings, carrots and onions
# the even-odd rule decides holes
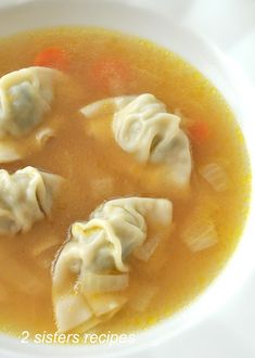
[[[220,93],[166,49],[97,28],[1,39],[0,76],[1,332],[129,333],[190,304],[248,209]]]

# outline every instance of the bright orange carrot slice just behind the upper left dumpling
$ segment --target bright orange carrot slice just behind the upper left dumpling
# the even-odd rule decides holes
[[[68,69],[69,61],[63,49],[52,47],[38,53],[34,60],[34,65],[65,72]]]

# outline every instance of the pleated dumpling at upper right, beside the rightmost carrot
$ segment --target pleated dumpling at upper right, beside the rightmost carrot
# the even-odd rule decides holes
[[[163,164],[169,183],[188,188],[192,167],[189,139],[180,128],[180,117],[167,113],[153,94],[101,100],[81,113],[89,119],[112,113],[114,138],[125,152],[141,163]]]

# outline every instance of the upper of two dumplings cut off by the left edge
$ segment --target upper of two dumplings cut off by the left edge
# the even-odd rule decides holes
[[[48,127],[39,128],[38,136],[28,135],[51,111],[61,78],[61,72],[47,67],[23,68],[0,78],[0,163],[18,161],[46,142],[41,137],[52,130]]]

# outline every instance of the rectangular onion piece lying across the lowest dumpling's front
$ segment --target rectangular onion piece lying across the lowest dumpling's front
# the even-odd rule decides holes
[[[80,290],[86,293],[103,293],[126,290],[128,286],[128,274],[97,274],[87,272],[82,277]]]

